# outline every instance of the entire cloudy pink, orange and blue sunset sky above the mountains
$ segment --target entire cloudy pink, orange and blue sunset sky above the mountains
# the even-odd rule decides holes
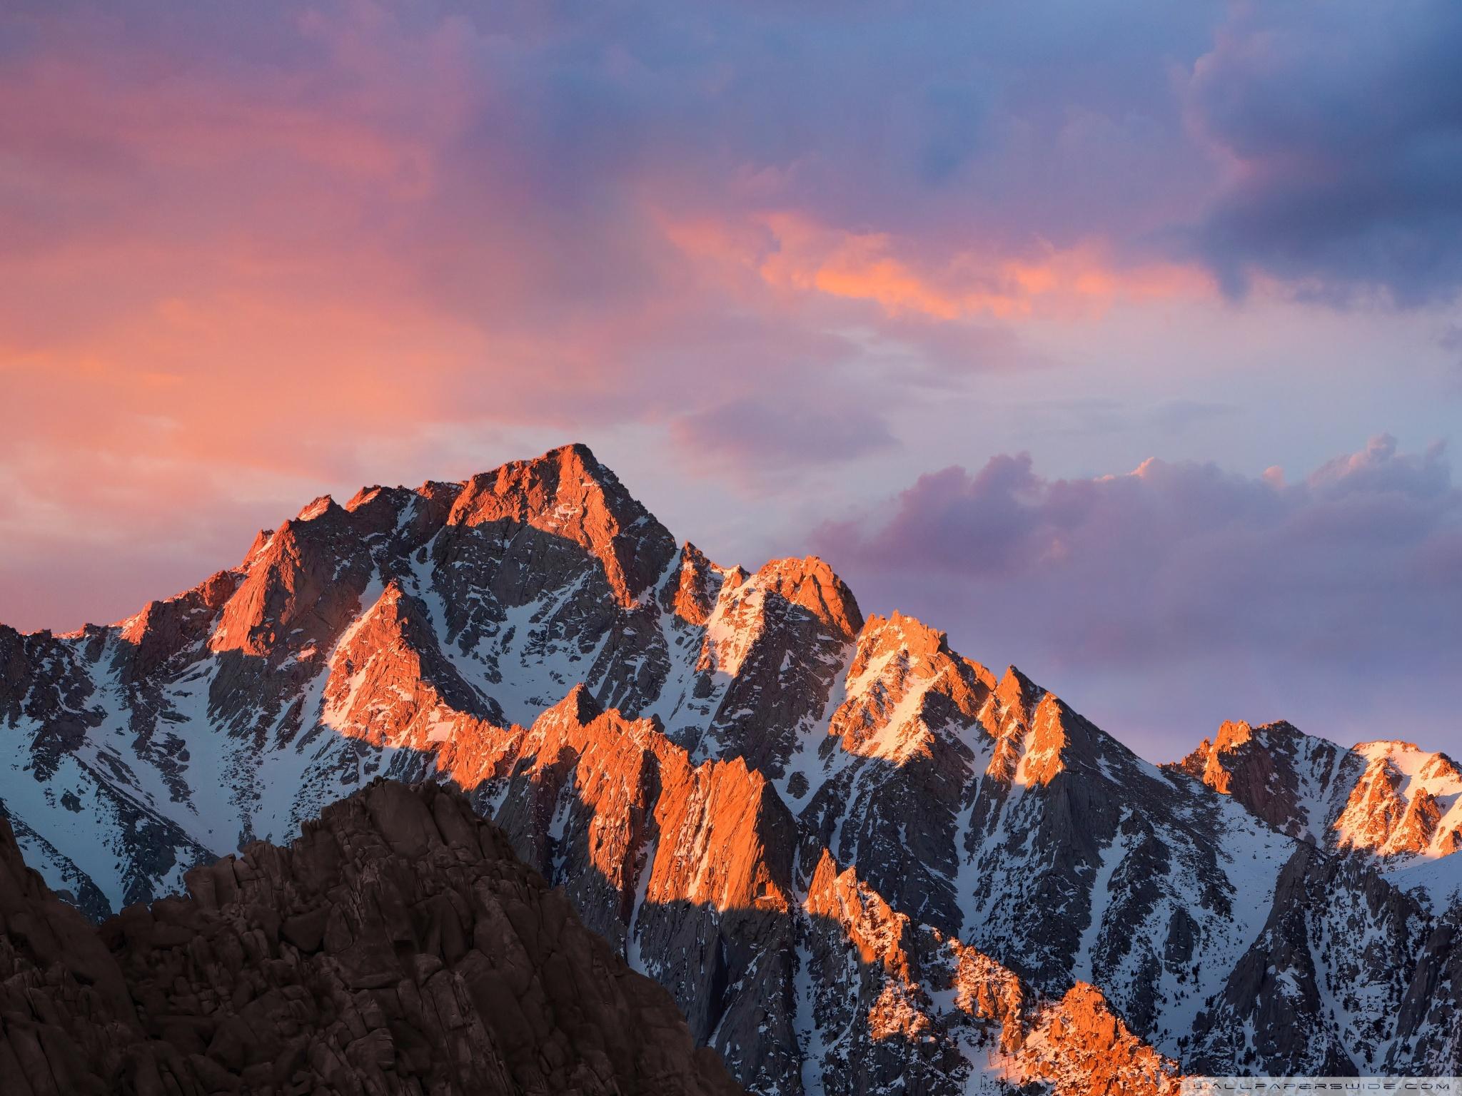
[[[13,0],[0,621],[585,441],[1155,760],[1462,751],[1462,6]]]

